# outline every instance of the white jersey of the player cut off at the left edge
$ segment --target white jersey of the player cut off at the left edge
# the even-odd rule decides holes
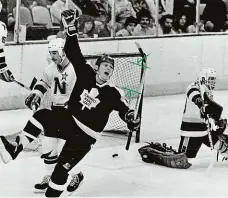
[[[5,53],[4,53],[4,45],[6,43],[7,37],[7,28],[6,24],[0,21],[0,73],[6,71],[6,60],[5,60]]]

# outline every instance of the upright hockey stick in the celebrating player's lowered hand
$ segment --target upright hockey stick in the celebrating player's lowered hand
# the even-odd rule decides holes
[[[147,62],[146,62],[146,54],[143,52],[141,46],[139,43],[135,42],[141,56],[142,56],[142,66],[143,66],[143,73],[142,73],[142,78],[141,78],[141,82],[140,82],[140,87],[139,87],[139,90],[138,92],[140,93],[139,94],[139,97],[137,98],[137,101],[136,101],[136,107],[135,107],[135,110],[134,110],[134,119],[137,118],[137,115],[138,115],[138,111],[139,111],[139,105],[140,105],[140,101],[141,101],[141,98],[142,98],[142,91],[143,91],[143,88],[144,88],[144,83],[145,83],[145,71],[146,71],[146,68],[147,68]],[[145,67],[145,68],[144,68]],[[125,149],[128,151],[129,150],[129,147],[130,147],[130,143],[131,143],[131,137],[132,137],[132,133],[134,131],[129,131],[128,133],[128,138],[127,138],[127,144],[126,144],[126,147]]]

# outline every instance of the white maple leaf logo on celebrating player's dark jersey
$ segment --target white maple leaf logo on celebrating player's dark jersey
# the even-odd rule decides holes
[[[84,110],[85,107],[89,110],[91,110],[92,107],[95,108],[100,103],[100,100],[96,98],[98,95],[99,92],[96,88],[92,88],[90,92],[84,89],[84,91],[80,95],[80,103],[82,104],[82,110]]]

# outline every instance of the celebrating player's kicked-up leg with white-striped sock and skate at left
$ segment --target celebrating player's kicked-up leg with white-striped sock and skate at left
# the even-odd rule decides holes
[[[0,156],[5,163],[15,159],[26,146],[37,139],[42,131],[47,131],[48,136],[56,136],[58,126],[54,123],[55,115],[51,110],[41,109],[34,113],[27,122],[24,130],[17,137],[17,145],[10,143],[6,137],[0,136]]]

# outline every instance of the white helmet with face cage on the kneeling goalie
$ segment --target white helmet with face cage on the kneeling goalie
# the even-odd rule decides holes
[[[212,68],[204,67],[199,74],[201,84],[207,86],[209,90],[213,90],[216,84],[216,71]]]

